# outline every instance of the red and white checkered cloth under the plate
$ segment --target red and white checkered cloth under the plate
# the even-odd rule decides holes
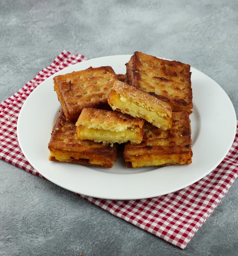
[[[16,94],[0,105],[0,157],[25,171],[42,177],[20,150],[16,126],[22,104],[47,77],[87,58],[62,52]],[[238,129],[234,143],[217,168],[180,191],[142,200],[104,200],[80,195],[113,215],[184,249],[214,211],[238,176]]]

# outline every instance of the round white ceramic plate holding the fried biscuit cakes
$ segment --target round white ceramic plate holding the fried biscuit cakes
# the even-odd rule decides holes
[[[110,65],[125,74],[131,55],[106,56],[77,63],[55,75]],[[51,162],[47,148],[60,109],[53,79],[42,82],[27,98],[18,118],[18,140],[30,164],[45,178],[69,191],[105,199],[140,199],[165,195],[185,188],[210,173],[228,153],[236,133],[234,107],[222,88],[191,67],[193,113],[192,164],[162,168],[94,168]],[[54,76],[55,76],[54,75]]]

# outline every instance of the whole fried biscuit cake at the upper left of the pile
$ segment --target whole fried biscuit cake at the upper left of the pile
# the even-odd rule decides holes
[[[85,107],[107,108],[107,94],[118,76],[110,66],[55,76],[54,89],[67,122],[77,121]]]

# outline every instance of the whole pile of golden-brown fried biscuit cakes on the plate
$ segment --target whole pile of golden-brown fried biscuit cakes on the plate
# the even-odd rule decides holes
[[[111,168],[190,164],[190,66],[134,52],[126,74],[89,67],[53,78],[62,106],[49,160]]]

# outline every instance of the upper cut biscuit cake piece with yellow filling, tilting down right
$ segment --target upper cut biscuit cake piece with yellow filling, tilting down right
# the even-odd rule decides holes
[[[122,81],[115,81],[107,99],[113,110],[145,119],[158,128],[172,126],[171,106],[157,97]]]

